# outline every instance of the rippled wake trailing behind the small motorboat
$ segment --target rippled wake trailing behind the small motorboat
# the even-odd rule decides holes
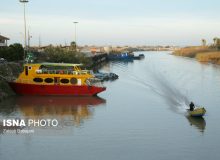
[[[148,69],[146,69],[148,68]],[[156,70],[154,67],[143,67],[141,77],[135,73],[128,72],[128,70],[118,64],[117,70],[126,72],[126,75],[135,81],[136,85],[142,88],[153,91],[156,95],[160,96],[169,105],[170,109],[175,113],[185,114],[189,106],[190,100],[180,91],[179,87],[175,86],[176,83],[169,81],[168,75]]]

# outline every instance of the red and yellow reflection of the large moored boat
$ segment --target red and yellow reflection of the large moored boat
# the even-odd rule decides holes
[[[92,118],[95,106],[105,103],[106,100],[99,97],[16,96],[0,104],[0,119],[57,119],[62,129],[81,126]],[[0,133],[3,129],[1,122]]]

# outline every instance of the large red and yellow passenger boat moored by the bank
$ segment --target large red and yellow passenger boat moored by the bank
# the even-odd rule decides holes
[[[9,84],[20,95],[95,96],[106,90],[95,82],[90,71],[81,70],[80,66],[68,63],[25,64],[23,72]]]

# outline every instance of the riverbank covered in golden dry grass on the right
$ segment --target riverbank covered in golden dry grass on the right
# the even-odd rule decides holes
[[[220,65],[220,50],[215,47],[194,46],[178,49],[173,55],[195,58],[199,62],[213,63]]]

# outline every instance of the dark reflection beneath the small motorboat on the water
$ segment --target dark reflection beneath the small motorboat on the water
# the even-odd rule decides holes
[[[189,121],[191,126],[194,126],[200,132],[204,132],[205,131],[206,122],[205,122],[205,119],[203,117],[186,116],[186,118]]]

